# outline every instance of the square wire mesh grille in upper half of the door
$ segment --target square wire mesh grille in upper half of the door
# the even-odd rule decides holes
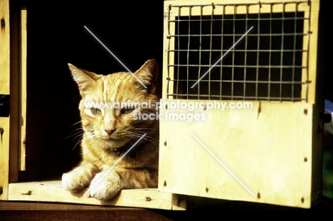
[[[250,5],[245,4],[169,6],[168,13],[176,11],[176,16],[171,19],[169,14],[168,20],[168,58],[172,60],[168,60],[167,98],[306,101],[307,93],[301,91],[309,83],[302,75],[308,71],[309,44],[304,41],[309,38],[304,37],[310,33],[304,32],[304,21],[310,19],[310,4],[305,17],[304,11],[297,11],[300,3],[304,1],[287,3],[295,11],[285,11],[286,3],[270,3],[270,9],[280,4],[283,10],[256,14],[248,10],[237,14],[240,6],[248,9]],[[223,11],[233,7],[235,13],[216,15],[216,6]],[[200,7],[201,13],[192,15],[193,7]],[[211,7],[211,15],[203,15],[204,7]],[[181,15],[184,10],[188,10],[186,16]],[[228,52],[250,27],[253,29]]]

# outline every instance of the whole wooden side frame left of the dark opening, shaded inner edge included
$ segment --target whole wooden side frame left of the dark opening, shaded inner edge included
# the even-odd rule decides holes
[[[10,95],[9,117],[0,117],[0,199],[8,199],[8,185],[25,168],[26,124],[26,10],[1,1],[1,95]],[[9,145],[10,144],[10,145]]]

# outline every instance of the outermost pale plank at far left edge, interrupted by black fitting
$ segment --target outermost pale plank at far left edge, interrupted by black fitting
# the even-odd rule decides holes
[[[0,94],[9,95],[9,1],[0,0]],[[0,200],[8,198],[9,117],[0,117]]]

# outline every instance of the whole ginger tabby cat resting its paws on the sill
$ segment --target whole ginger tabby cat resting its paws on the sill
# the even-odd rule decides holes
[[[68,66],[82,97],[79,109],[83,126],[83,160],[73,171],[63,173],[63,188],[80,190],[90,186],[90,196],[98,200],[108,200],[122,189],[156,188],[159,123],[158,120],[138,117],[139,113],[157,113],[155,107],[87,105],[151,102],[154,106],[157,102],[156,60],[148,60],[134,72],[147,88],[129,72],[97,75],[71,64]]]

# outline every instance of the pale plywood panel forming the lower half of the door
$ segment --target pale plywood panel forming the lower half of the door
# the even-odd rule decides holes
[[[312,169],[320,173],[312,168],[312,104],[252,102],[232,109],[245,103],[216,102],[226,108],[209,109],[211,103],[161,109],[159,190],[310,207],[312,181],[320,182],[312,180]],[[180,117],[191,114],[200,117]]]

